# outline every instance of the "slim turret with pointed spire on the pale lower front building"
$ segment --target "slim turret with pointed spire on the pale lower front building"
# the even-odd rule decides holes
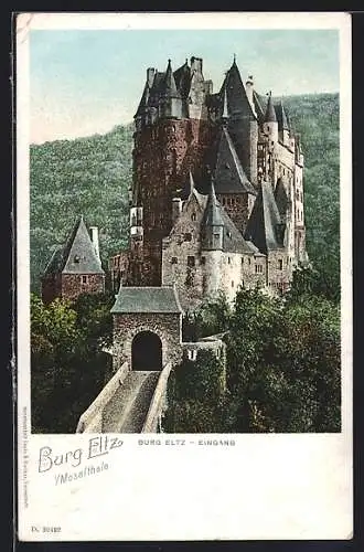
[[[221,204],[216,199],[213,178],[211,179],[211,188],[203,219],[203,226],[204,226],[204,233],[202,240],[202,247],[207,251],[223,250],[224,221],[222,216]]]

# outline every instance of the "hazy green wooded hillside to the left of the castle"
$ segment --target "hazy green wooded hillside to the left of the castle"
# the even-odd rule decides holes
[[[99,227],[104,266],[127,244],[131,185],[131,126],[105,136],[56,140],[30,148],[31,288],[79,214]],[[62,214],[60,216],[60,213]]]

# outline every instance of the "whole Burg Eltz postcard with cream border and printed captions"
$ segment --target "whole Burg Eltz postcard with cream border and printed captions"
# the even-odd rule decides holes
[[[350,15],[15,33],[19,539],[351,539]]]

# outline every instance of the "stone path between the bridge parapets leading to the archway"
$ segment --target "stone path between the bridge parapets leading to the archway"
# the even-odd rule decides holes
[[[129,372],[103,412],[103,433],[140,433],[160,372]]]

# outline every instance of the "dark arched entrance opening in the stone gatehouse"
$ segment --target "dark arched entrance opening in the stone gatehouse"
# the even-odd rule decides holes
[[[131,369],[140,372],[162,370],[162,342],[157,333],[141,331],[133,338]]]

